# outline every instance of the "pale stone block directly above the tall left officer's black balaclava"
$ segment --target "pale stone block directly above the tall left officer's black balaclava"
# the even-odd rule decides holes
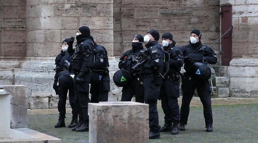
[[[88,26],[90,29],[113,30],[113,17],[81,17],[80,26]]]

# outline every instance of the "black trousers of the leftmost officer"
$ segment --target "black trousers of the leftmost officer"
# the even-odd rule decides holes
[[[59,101],[58,101],[58,111],[60,116],[65,116],[66,114],[66,98],[69,90],[69,102],[72,108],[72,115],[78,116],[77,109],[75,107],[75,88],[74,81],[72,77],[61,75],[59,77]]]

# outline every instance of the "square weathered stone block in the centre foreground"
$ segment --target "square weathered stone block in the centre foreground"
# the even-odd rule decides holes
[[[148,104],[100,102],[88,105],[90,143],[148,143]]]

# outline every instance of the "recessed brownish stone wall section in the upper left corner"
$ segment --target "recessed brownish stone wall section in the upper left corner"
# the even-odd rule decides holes
[[[26,55],[25,0],[0,1],[0,56]]]

